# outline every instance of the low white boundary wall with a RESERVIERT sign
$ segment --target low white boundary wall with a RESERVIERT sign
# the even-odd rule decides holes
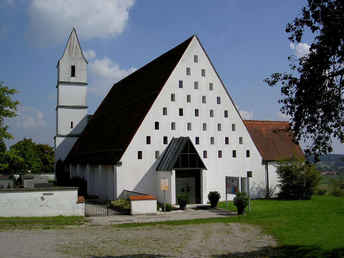
[[[77,200],[77,187],[0,190],[0,216],[85,216]]]

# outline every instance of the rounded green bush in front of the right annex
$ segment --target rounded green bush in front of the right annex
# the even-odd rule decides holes
[[[314,169],[314,164],[306,164],[303,159],[280,159],[275,167],[279,198],[310,199],[320,184],[319,172]]]

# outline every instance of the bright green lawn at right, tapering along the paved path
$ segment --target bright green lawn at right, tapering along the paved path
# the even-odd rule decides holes
[[[219,202],[217,207],[226,208],[226,203]],[[233,202],[228,202],[227,209],[236,211]],[[279,243],[276,248],[276,251],[279,252],[277,257],[344,257],[344,197],[315,195],[311,200],[304,201],[251,200],[251,212],[248,213],[247,207],[246,214],[246,216],[157,222],[146,225],[218,222],[258,225],[263,228],[265,233],[277,239]],[[145,224],[116,226],[135,227],[142,225]]]

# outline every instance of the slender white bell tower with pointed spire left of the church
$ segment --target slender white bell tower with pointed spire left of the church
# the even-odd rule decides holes
[[[87,124],[87,61],[73,28],[57,63],[57,106],[54,161],[63,161]]]

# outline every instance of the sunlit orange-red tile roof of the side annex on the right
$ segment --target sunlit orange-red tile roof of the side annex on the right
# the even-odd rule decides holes
[[[286,132],[287,121],[244,120],[244,123],[265,160],[304,157],[301,147],[292,141],[292,132]]]

